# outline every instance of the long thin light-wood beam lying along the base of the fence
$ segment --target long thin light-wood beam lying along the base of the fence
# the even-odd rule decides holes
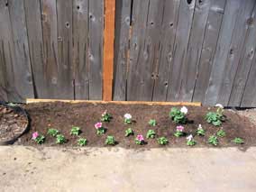
[[[27,104],[41,102],[65,102],[70,104],[88,103],[88,104],[120,104],[120,105],[186,105],[201,106],[200,102],[148,102],[148,101],[94,101],[94,100],[62,100],[62,99],[34,99],[26,100]]]

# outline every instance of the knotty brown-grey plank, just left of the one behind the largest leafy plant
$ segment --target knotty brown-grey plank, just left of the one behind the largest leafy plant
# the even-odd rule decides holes
[[[160,31],[160,59],[158,78],[155,79],[154,101],[165,101],[169,87],[169,75],[173,60],[175,33],[178,23],[180,1],[165,1]]]

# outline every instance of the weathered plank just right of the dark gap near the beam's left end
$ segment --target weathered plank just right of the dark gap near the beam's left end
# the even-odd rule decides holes
[[[47,97],[44,78],[40,0],[24,0],[35,97]]]

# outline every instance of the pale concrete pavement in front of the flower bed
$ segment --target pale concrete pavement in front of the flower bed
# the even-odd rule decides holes
[[[256,148],[0,147],[0,191],[255,192]]]

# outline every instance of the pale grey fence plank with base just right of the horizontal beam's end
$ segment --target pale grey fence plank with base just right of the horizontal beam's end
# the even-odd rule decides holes
[[[209,79],[209,85],[206,90],[206,105],[215,105],[217,103],[222,79],[224,77],[225,60],[230,52],[233,29],[237,16],[239,15],[241,3],[241,0],[227,0],[225,5],[222,28],[215,51],[215,59]]]

